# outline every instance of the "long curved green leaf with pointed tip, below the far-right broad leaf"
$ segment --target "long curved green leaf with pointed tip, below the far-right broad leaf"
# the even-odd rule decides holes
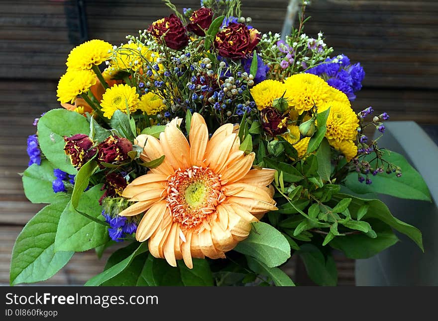
[[[395,228],[399,232],[409,236],[417,245],[423,249],[423,238],[421,231],[408,223],[401,221],[400,219],[394,217],[389,211],[388,207],[379,200],[366,200],[353,197],[351,195],[337,194],[333,196],[333,199],[341,200],[345,198],[351,198],[351,203],[348,206],[349,211],[356,217],[357,212],[363,205],[368,205],[368,211],[362,217],[362,220],[367,220],[370,218],[377,218],[391,227]],[[372,226],[372,225],[371,225]],[[331,244],[331,243],[330,243]]]

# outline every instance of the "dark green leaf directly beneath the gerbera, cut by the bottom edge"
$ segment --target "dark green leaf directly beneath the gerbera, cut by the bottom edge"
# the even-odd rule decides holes
[[[179,260],[178,267],[181,273],[181,280],[185,286],[207,286],[211,287],[213,275],[210,270],[210,264],[205,259],[192,259],[193,269],[189,269],[186,264]]]

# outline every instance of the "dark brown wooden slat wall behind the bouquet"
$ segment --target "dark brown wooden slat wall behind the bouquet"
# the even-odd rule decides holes
[[[198,0],[173,2],[199,7]],[[280,32],[287,0],[242,3],[252,25]],[[13,242],[42,207],[25,199],[17,174],[27,166],[26,138],[34,133],[35,117],[59,107],[56,85],[70,49],[87,40],[84,31],[89,39],[119,44],[169,11],[159,0],[1,0],[0,12],[0,284],[8,284]],[[355,109],[373,106],[391,120],[438,124],[437,1],[312,0],[308,15],[307,34],[324,31],[336,54],[363,65],[364,88]],[[77,253],[45,283],[83,284],[102,271],[108,255],[99,261],[92,251]],[[354,261],[336,255],[336,262],[339,285],[354,285]],[[288,271],[299,277],[303,269],[295,265]]]

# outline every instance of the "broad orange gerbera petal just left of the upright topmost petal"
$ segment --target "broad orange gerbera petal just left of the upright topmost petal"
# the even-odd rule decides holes
[[[183,132],[176,126],[166,126],[160,134],[164,155],[174,170],[188,168],[190,164],[190,146]]]

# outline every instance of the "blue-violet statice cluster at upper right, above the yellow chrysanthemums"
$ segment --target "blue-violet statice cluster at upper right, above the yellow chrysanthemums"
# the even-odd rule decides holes
[[[350,59],[345,55],[327,58],[324,63],[310,68],[309,74],[320,76],[331,86],[343,92],[350,101],[356,99],[355,92],[362,88],[365,77],[360,63],[351,65]]]

